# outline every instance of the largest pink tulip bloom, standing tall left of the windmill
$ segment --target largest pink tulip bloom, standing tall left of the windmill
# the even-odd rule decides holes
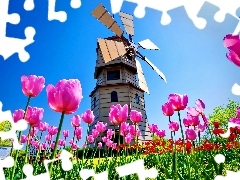
[[[80,81],[77,79],[60,80],[57,85],[48,85],[48,105],[55,112],[72,114],[77,111],[83,98]]]

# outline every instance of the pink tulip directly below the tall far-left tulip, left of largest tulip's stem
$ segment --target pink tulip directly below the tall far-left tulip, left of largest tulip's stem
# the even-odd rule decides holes
[[[38,127],[43,118],[44,109],[28,106],[26,121],[31,127]]]

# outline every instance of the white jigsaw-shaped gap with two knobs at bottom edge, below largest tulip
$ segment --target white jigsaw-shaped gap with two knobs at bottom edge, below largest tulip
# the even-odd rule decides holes
[[[64,171],[70,171],[73,167],[73,164],[70,160],[70,158],[73,157],[71,153],[69,153],[66,150],[62,150],[59,158],[52,159],[52,160],[44,160],[43,164],[46,169],[45,173],[38,174],[36,176],[33,175],[33,167],[30,164],[25,164],[23,166],[23,173],[27,176],[25,179],[21,180],[50,180],[50,173],[48,170],[48,164],[53,163],[55,161],[61,160],[61,166]]]

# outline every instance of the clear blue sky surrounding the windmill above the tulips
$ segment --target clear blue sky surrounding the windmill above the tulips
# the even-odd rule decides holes
[[[48,21],[47,2],[35,1],[35,9],[27,12],[23,9],[23,0],[10,1],[9,13],[19,13],[21,22],[18,25],[8,24],[7,36],[25,38],[26,26],[33,26],[36,36],[35,42],[26,47],[31,55],[28,62],[20,62],[17,54],[6,61],[0,57],[0,101],[3,110],[24,109],[27,97],[21,90],[22,75],[44,76],[46,85],[55,85],[61,79],[77,78],[81,81],[84,98],[74,114],[81,114],[90,108],[89,94],[96,83],[93,73],[97,38],[114,35],[90,12],[99,3],[103,3],[111,12],[110,1],[85,0],[82,1],[81,8],[72,9],[70,1],[59,0],[56,10],[67,12],[68,19],[65,23]],[[136,4],[124,2],[121,10],[133,14],[135,7]],[[141,61],[150,90],[150,95],[145,95],[150,124],[155,123],[160,129],[167,129],[168,118],[162,114],[161,106],[170,93],[187,94],[189,106],[194,106],[198,98],[203,99],[207,115],[214,107],[227,104],[228,98],[239,101],[239,97],[231,93],[231,87],[235,82],[240,83],[240,70],[226,58],[228,50],[222,43],[224,36],[234,31],[237,20],[227,15],[223,23],[218,23],[213,19],[217,11],[217,7],[204,4],[199,17],[205,18],[208,23],[203,30],[193,25],[183,7],[169,12],[172,22],[167,26],[160,24],[161,12],[151,9],[146,9],[144,18],[134,18],[133,40],[139,42],[149,38],[160,48],[160,51],[142,50],[141,53],[165,74],[168,82],[166,84],[147,63]],[[115,19],[121,25],[118,15],[115,15]],[[48,107],[46,89],[32,99],[30,105],[44,108],[43,121],[58,126],[61,114]],[[65,116],[63,129],[72,130],[70,118],[73,115]],[[181,116],[185,117],[186,112],[181,112]],[[177,120],[176,115],[173,120]],[[86,128],[83,124],[84,136]],[[167,136],[169,137],[169,131]]]

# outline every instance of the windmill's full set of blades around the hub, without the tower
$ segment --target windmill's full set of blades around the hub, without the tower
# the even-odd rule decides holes
[[[112,46],[109,41],[111,40],[103,40],[98,39],[100,49],[110,49],[112,51],[118,51],[116,53],[117,56],[132,56],[138,57],[142,59],[143,61],[147,62],[148,65],[163,79],[166,83],[165,75],[144,55],[142,55],[139,52],[139,49],[148,49],[148,50],[159,50],[159,48],[149,39],[143,40],[138,42],[138,44],[133,42],[133,36],[134,36],[134,24],[133,24],[133,16],[124,12],[120,12],[119,16],[121,18],[122,24],[125,28],[126,33],[128,34],[129,38],[124,37],[124,31],[120,28],[120,26],[117,24],[117,22],[114,20],[114,18],[110,15],[110,13],[107,11],[107,9],[102,5],[99,4],[92,12],[91,14],[99,20],[102,24],[104,24],[108,29],[110,29],[113,33],[115,33],[118,37],[120,37],[125,42],[127,41],[128,46],[124,45],[124,42],[118,42],[117,46]],[[107,46],[107,47],[106,47]],[[123,47],[124,48],[121,48]],[[119,51],[121,49],[121,51]],[[103,50],[104,51],[104,50]],[[116,56],[111,56],[110,58],[103,53],[103,58],[105,62],[109,62],[115,58]],[[147,83],[144,77],[144,73],[142,71],[142,67],[140,62],[135,58],[136,66],[137,66],[137,73],[139,78],[139,86],[141,89],[143,89],[146,93],[149,94],[149,90],[147,87]]]

